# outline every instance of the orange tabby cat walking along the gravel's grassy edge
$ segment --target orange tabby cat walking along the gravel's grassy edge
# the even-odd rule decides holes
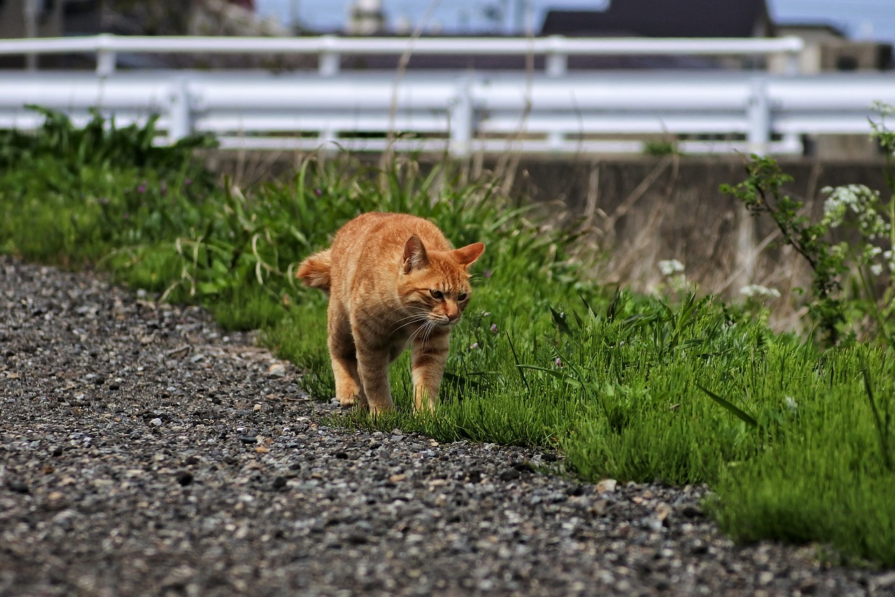
[[[466,268],[482,243],[454,249],[438,226],[406,214],[367,213],[342,226],[297,276],[329,294],[328,345],[343,406],[393,407],[388,363],[413,343],[413,403],[435,405],[450,330],[472,294]]]

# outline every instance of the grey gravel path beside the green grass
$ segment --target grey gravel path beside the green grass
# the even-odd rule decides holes
[[[3,257],[0,402],[0,595],[895,593],[733,545],[704,488],[328,427],[291,365],[199,309]]]

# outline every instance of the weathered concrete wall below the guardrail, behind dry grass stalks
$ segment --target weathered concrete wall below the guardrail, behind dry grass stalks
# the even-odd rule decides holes
[[[795,179],[789,194],[819,216],[827,185],[865,183],[886,196],[882,160],[782,161]],[[584,223],[582,243],[605,253],[593,272],[607,283],[650,291],[665,280],[660,260],[685,264],[687,280],[702,292],[736,296],[749,284],[784,294],[808,286],[804,260],[780,240],[768,217],[750,217],[722,183],[746,178],[742,158],[621,158],[532,160],[518,166],[516,191],[567,209],[567,224]],[[557,209],[558,211],[558,209]]]

